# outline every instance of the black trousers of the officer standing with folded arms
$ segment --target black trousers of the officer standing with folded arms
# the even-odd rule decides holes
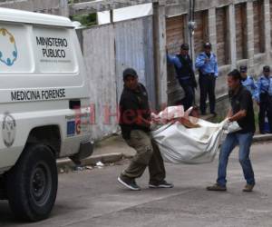
[[[199,88],[200,88],[200,111],[201,114],[206,114],[206,100],[209,95],[209,111],[215,113],[215,86],[216,77],[213,74],[199,74]]]

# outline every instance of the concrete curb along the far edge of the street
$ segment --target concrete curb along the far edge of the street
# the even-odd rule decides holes
[[[272,141],[272,134],[257,134],[253,137],[253,143],[264,143]],[[133,154],[129,153],[105,153],[92,155],[82,161],[83,165],[95,165],[98,162],[116,163],[122,158],[131,158]],[[74,167],[74,163],[69,158],[59,159],[57,161],[58,168]]]

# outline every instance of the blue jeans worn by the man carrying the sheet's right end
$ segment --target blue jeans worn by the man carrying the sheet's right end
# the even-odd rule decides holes
[[[253,133],[229,133],[227,135],[219,154],[219,176],[217,180],[219,185],[225,186],[227,183],[228,156],[236,145],[239,146],[239,163],[242,166],[244,177],[248,184],[255,184],[254,172],[249,159],[252,138]]]

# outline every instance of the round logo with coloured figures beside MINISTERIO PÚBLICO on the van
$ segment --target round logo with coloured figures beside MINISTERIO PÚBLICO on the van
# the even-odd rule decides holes
[[[12,66],[15,64],[17,56],[15,36],[5,28],[0,28],[0,63]]]

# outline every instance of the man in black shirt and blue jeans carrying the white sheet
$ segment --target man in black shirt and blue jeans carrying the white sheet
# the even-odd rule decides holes
[[[242,166],[244,177],[247,181],[243,192],[252,192],[255,185],[254,172],[249,159],[250,146],[253,134],[255,133],[255,121],[253,102],[250,92],[242,86],[241,75],[238,70],[228,74],[229,101],[231,108],[228,112],[229,122],[237,121],[241,130],[236,133],[228,133],[225,142],[221,146],[219,154],[218,180],[212,186],[207,187],[208,191],[226,191],[226,172],[228,156],[239,146],[239,163]]]

